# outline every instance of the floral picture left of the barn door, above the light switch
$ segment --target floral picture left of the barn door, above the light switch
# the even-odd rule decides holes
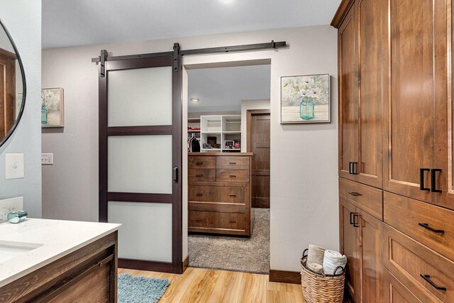
[[[41,126],[63,127],[65,111],[63,110],[63,89],[41,89]]]

